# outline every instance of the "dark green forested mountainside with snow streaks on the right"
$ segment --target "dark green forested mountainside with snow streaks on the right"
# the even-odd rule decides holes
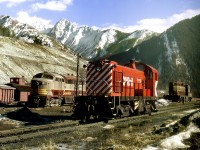
[[[121,64],[132,58],[159,70],[159,89],[167,89],[170,81],[185,81],[191,84],[193,94],[200,96],[200,15],[177,23],[127,52],[109,57]]]

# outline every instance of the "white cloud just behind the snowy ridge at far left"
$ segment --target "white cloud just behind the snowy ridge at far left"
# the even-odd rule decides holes
[[[43,31],[44,29],[53,27],[53,25],[51,24],[51,20],[39,18],[36,16],[30,16],[25,11],[18,12],[16,19],[21,23],[26,23],[26,24],[33,26],[34,28],[38,29],[39,31]]]

